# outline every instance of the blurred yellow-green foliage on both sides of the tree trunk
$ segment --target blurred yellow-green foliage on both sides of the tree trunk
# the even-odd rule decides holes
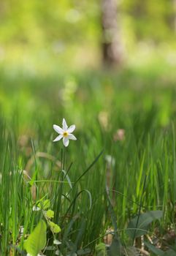
[[[1,0],[0,63],[19,64],[33,73],[55,66],[99,66],[101,4],[100,0]],[[127,59],[135,56],[139,60],[137,53],[141,51],[146,53],[142,57],[145,61],[146,56],[156,58],[164,50],[175,50],[174,0],[121,0],[117,4]],[[158,46],[162,47],[159,53]]]

